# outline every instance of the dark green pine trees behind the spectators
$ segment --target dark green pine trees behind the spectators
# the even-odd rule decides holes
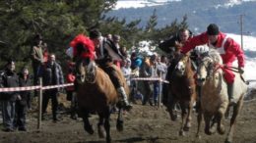
[[[50,53],[59,61],[65,61],[65,50],[69,42],[79,33],[98,28],[103,34],[119,34],[121,45],[128,49],[141,40],[152,40],[158,44],[180,27],[187,27],[187,18],[181,22],[157,28],[156,10],[146,26],[141,20],[127,23],[125,19],[106,17],[117,0],[0,0],[0,65],[10,58],[28,63],[32,37],[43,36]]]

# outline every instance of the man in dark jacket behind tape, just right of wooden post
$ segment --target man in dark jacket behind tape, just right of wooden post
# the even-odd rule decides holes
[[[42,76],[42,83],[44,86],[58,85],[58,84],[64,83],[62,69],[60,65],[55,61],[54,54],[51,54],[48,62],[45,64],[45,66],[42,66],[40,71],[40,76]],[[58,121],[57,119],[58,92],[59,92],[59,88],[47,89],[44,91],[44,94],[42,97],[42,117],[46,113],[48,101],[51,98],[53,121]]]

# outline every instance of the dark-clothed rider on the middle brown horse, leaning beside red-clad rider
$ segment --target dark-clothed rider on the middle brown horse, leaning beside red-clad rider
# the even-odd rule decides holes
[[[179,29],[178,33],[171,36],[169,39],[163,41],[160,43],[159,47],[162,51],[166,53],[173,54],[174,52],[178,51],[180,47],[189,39],[192,37],[192,32],[187,28],[181,28]],[[173,55],[172,55],[173,56]],[[170,57],[170,60],[172,60],[174,57]],[[168,80],[170,76],[172,66],[168,67],[166,77],[165,79]],[[167,104],[167,97],[168,97],[168,84],[163,83],[162,84],[162,104]]]

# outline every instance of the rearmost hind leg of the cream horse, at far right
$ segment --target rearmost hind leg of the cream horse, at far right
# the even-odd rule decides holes
[[[242,105],[243,105],[243,96],[240,98],[238,103],[233,107],[233,114],[232,114],[232,118],[230,119],[230,128],[229,128],[227,137],[225,139],[226,143],[231,143],[233,140],[235,121],[236,121],[237,115],[239,114],[242,108]]]

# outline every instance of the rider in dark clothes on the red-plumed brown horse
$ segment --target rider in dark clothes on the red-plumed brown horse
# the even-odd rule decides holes
[[[120,79],[117,76],[115,69],[112,68],[113,60],[122,60],[123,56],[118,52],[111,40],[103,38],[97,29],[90,31],[90,38],[96,46],[96,63],[105,71],[114,84],[118,94],[121,96],[123,108],[126,110],[132,109],[132,105],[128,102],[126,92]]]

